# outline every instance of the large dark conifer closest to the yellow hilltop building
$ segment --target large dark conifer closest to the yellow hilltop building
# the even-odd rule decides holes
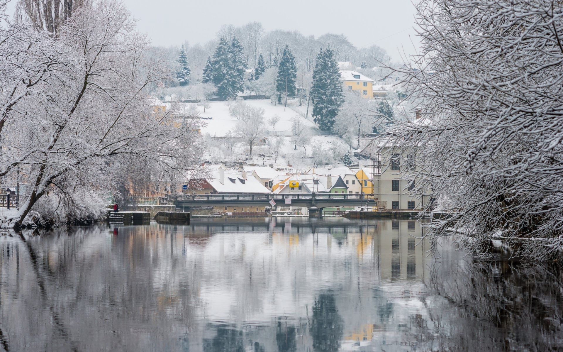
[[[344,103],[342,80],[332,49],[321,49],[316,57],[311,85],[313,117],[321,130],[330,131]]]

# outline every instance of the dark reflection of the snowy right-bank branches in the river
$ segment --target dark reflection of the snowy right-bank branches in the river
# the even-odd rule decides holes
[[[472,262],[451,271],[436,265],[431,295],[445,300],[427,319],[410,317],[409,335],[439,350],[561,349],[562,279],[560,267],[536,263]]]

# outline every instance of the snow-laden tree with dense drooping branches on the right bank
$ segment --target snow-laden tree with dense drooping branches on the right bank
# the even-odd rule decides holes
[[[418,119],[396,119],[388,142],[415,156],[415,189],[432,190],[450,215],[432,220],[430,236],[463,229],[479,256],[497,239],[517,255],[561,258],[561,2],[422,0],[417,9],[422,56],[411,63],[418,71],[401,71]]]

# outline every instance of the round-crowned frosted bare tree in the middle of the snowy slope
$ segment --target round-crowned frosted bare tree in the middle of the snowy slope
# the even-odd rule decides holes
[[[236,114],[238,119],[233,136],[248,145],[249,154],[252,155],[252,146],[266,134],[264,109],[240,101],[231,109],[231,115],[233,114]]]

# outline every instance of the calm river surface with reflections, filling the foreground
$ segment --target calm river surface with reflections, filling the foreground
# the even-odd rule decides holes
[[[415,221],[210,219],[0,237],[0,351],[563,349],[557,265]]]

